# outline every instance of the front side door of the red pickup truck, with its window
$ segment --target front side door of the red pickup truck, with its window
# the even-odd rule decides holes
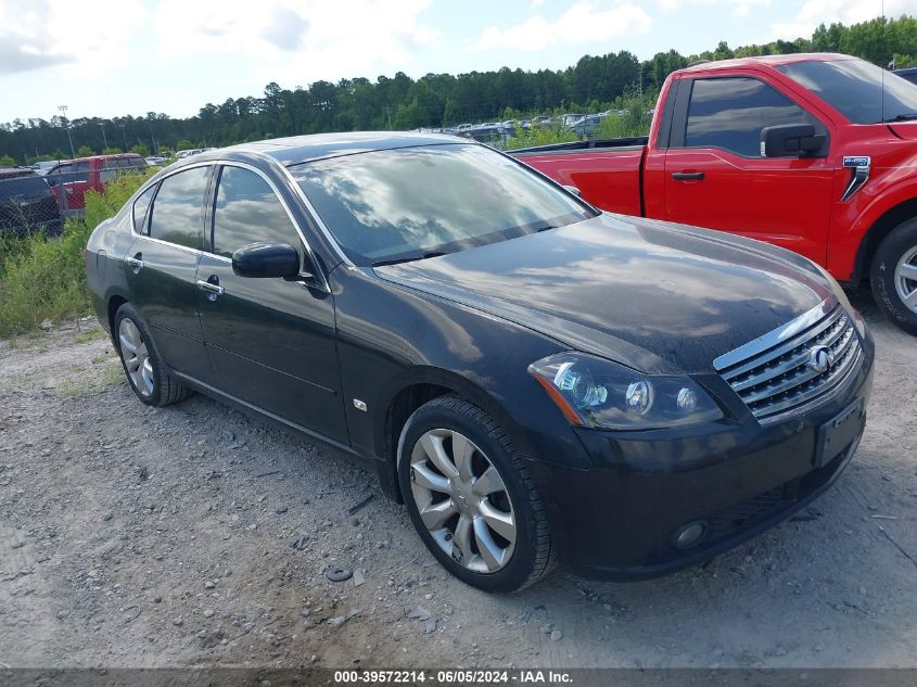
[[[824,265],[831,213],[826,138],[812,157],[762,157],[761,130],[824,124],[752,76],[682,79],[665,155],[665,217],[767,241]]]

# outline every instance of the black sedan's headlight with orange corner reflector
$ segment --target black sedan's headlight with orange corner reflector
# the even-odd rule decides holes
[[[642,374],[580,353],[542,358],[528,366],[528,373],[566,419],[581,427],[650,430],[723,417],[719,406],[688,377]]]

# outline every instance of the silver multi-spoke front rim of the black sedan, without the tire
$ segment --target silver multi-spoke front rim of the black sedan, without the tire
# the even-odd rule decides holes
[[[430,535],[453,560],[477,573],[512,558],[517,523],[497,468],[471,440],[431,430],[410,456],[411,495]]]

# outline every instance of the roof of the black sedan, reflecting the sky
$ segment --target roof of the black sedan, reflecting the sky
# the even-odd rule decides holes
[[[354,155],[396,148],[473,143],[467,138],[413,131],[348,131],[343,133],[313,133],[277,138],[254,143],[241,143],[194,155],[195,162],[226,157],[232,153],[255,153],[273,157],[285,167],[327,157]]]

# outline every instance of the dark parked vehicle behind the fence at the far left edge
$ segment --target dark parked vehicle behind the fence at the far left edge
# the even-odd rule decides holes
[[[27,167],[0,167],[0,236],[61,233],[61,211],[44,179]]]

